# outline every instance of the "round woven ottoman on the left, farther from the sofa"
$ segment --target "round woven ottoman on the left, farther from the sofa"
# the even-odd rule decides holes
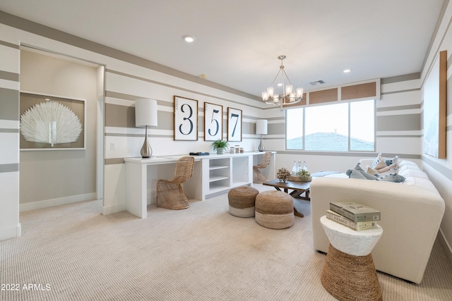
[[[232,188],[227,194],[230,214],[239,217],[253,217],[254,202],[258,194],[259,191],[250,186]]]

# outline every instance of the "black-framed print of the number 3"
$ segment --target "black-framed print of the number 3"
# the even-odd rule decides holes
[[[198,140],[198,101],[174,95],[174,140]]]

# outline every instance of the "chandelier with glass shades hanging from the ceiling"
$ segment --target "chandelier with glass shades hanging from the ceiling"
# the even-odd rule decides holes
[[[280,70],[278,71],[278,74],[271,83],[270,87],[267,88],[267,91],[262,92],[262,100],[266,104],[273,104],[275,106],[279,106],[281,104],[296,104],[303,98],[303,88],[297,88],[297,90],[294,90],[292,82],[290,82],[289,77],[287,77],[287,74],[284,70],[283,59],[285,59],[285,56],[278,56],[278,59],[281,60]],[[283,93],[275,94],[275,88],[273,87],[273,84],[275,83],[275,80],[279,75],[281,78],[281,84],[278,84],[278,86],[283,86]],[[285,85],[284,77],[288,82],[287,85]]]

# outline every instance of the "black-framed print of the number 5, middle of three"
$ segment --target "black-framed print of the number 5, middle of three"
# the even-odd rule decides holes
[[[223,106],[204,102],[204,141],[223,139]]]

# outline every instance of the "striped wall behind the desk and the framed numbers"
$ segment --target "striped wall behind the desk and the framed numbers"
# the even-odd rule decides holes
[[[242,142],[238,144],[247,150],[256,150],[258,143],[255,123],[261,109],[250,99],[221,95],[215,91],[203,92],[181,89],[167,82],[153,78],[138,77],[107,68],[105,75],[105,145],[106,163],[121,163],[120,158],[140,156],[145,130],[135,127],[135,99],[157,100],[158,125],[148,128],[148,137],[156,156],[167,154],[188,154],[189,152],[212,152],[212,142],[204,141],[204,102],[222,105],[223,138],[227,137],[227,108],[242,110]],[[198,140],[174,141],[174,95],[198,101]],[[114,143],[116,149],[110,149]],[[235,144],[235,142],[234,142]]]

